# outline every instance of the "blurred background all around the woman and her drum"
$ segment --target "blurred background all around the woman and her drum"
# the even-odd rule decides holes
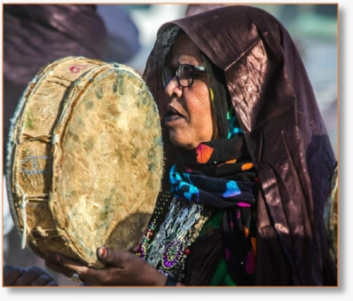
[[[4,158],[13,111],[27,83],[44,65],[82,55],[122,63],[142,74],[161,24],[223,5],[230,4],[3,4]],[[293,37],[337,155],[337,4],[253,6],[277,17]],[[3,196],[3,264],[44,266],[31,250],[20,249],[5,191]],[[54,274],[60,285],[75,285]]]

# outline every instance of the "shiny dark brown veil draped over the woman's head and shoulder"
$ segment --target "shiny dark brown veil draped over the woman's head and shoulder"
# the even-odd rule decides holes
[[[298,51],[278,20],[231,6],[164,24],[145,80],[164,117],[161,67],[179,28],[225,72],[248,151],[258,170],[257,285],[336,285],[323,210],[336,160]],[[166,171],[176,160],[163,126]],[[169,188],[168,177],[163,179]]]

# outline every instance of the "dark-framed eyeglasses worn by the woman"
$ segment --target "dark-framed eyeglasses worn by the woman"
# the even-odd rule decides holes
[[[168,86],[171,79],[176,75],[176,81],[182,87],[190,87],[195,80],[196,72],[206,73],[206,67],[181,64],[176,68],[163,67],[162,81],[164,88]]]

